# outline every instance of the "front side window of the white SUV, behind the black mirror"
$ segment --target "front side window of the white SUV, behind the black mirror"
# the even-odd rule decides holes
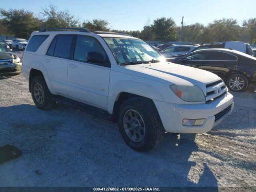
[[[108,62],[106,53],[98,40],[88,36],[77,37],[74,59],[100,65]]]

